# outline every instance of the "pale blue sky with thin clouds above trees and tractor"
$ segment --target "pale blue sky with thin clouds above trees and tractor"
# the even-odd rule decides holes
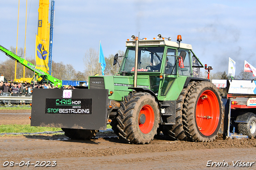
[[[39,0],[28,0],[26,57],[34,57]],[[152,40],[161,34],[192,45],[202,64],[212,72],[228,73],[228,58],[236,61],[236,75],[244,60],[256,67],[255,0],[55,0],[52,60],[84,71],[89,48],[105,57],[126,50],[132,35]],[[2,0],[0,45],[24,48],[26,1]],[[49,17],[50,22],[50,17]],[[0,53],[0,61],[8,59]],[[202,69],[201,69],[202,71]],[[1,71],[0,71],[1,72]]]

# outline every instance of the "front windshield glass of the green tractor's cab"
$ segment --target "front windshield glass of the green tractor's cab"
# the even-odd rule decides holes
[[[139,47],[138,72],[159,72],[164,47]],[[129,47],[121,71],[134,72],[135,47]]]

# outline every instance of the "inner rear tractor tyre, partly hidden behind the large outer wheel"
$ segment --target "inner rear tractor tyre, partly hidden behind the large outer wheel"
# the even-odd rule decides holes
[[[171,137],[174,140],[186,140],[187,136],[184,133],[183,127],[183,113],[186,112],[188,99],[188,93],[192,89],[192,84],[189,83],[188,87],[184,87],[182,89],[178,99],[176,100],[176,118],[175,118],[175,125],[164,125],[163,126],[163,134]]]

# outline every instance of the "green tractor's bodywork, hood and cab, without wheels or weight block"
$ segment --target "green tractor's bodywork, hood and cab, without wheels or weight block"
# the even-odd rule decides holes
[[[139,66],[137,87],[150,89],[156,94],[159,101],[176,100],[178,98],[187,78],[193,77],[191,64],[192,57],[194,57],[194,60],[196,59],[197,63],[199,63],[193,67],[203,67],[202,63],[200,63],[196,55],[194,55],[192,47],[189,44],[181,43],[180,46],[186,48],[178,48],[178,43],[173,43],[166,40],[144,40],[139,41],[139,43],[142,43],[143,45],[142,47],[139,45],[138,50]],[[135,47],[134,43],[132,42],[126,42],[126,45],[127,50],[124,55],[119,73],[114,76],[89,77],[89,89],[104,88],[108,89],[109,91],[113,91],[114,93],[109,97],[109,99],[115,101],[121,101],[122,97],[132,91],[132,89],[128,88],[134,87]],[[184,68],[180,68],[176,63],[180,51],[184,51],[186,53],[183,61]],[[171,63],[169,66],[170,68],[168,68],[170,70],[169,73],[166,73],[167,69],[165,69],[166,57],[168,57],[168,63]],[[162,60],[164,62],[162,62]],[[150,67],[150,63],[158,65],[158,67]],[[125,75],[122,72],[126,72]],[[100,79],[101,83],[104,83],[104,85],[93,83],[94,79]]]

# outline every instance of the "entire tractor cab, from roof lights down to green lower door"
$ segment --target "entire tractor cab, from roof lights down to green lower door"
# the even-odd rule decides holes
[[[133,76],[133,86],[138,79],[138,87],[148,87],[157,95],[158,100],[177,99],[177,91],[183,89],[186,79],[196,75],[193,71],[198,71],[199,75],[203,65],[193,53],[192,45],[180,43],[181,36],[178,36],[177,42],[168,41],[170,38],[167,40],[160,34],[158,38],[160,39],[128,39],[119,73],[128,76],[127,78]],[[145,76],[148,78],[144,78]],[[147,81],[148,83],[144,83]]]

